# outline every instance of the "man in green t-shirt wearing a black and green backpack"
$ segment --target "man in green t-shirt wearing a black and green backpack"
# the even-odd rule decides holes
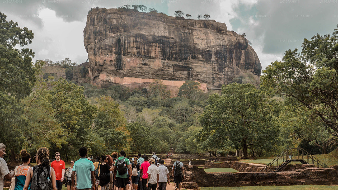
[[[125,157],[125,152],[122,150],[120,152],[120,157],[118,159],[116,159],[115,161],[115,165],[114,165],[114,174],[115,174],[115,178],[117,181],[117,186],[118,190],[121,190],[121,188],[123,188],[123,190],[126,190],[127,188],[127,183],[128,183],[128,175],[127,172],[124,174],[119,174],[119,171],[117,171],[118,169],[118,163],[119,161],[124,160],[124,166],[126,167],[127,172],[129,173],[129,181],[131,181],[131,166],[130,166],[130,162],[129,159],[127,159]]]

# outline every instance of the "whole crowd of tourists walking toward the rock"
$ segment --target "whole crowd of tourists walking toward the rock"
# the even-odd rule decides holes
[[[35,155],[37,165],[30,167],[31,156],[25,150],[20,155],[23,164],[9,171],[3,159],[6,146],[0,143],[0,189],[3,179],[11,179],[9,190],[166,190],[169,181],[169,170],[164,160],[153,152],[151,158],[138,154],[137,157],[126,157],[125,151],[113,152],[112,155],[97,157],[95,162],[87,157],[87,148],[79,148],[80,159],[70,162],[66,169],[61,160],[61,153],[55,152],[55,160],[50,163],[49,150],[38,149]],[[178,158],[173,164],[172,177],[175,190],[180,190],[185,179],[184,165]]]

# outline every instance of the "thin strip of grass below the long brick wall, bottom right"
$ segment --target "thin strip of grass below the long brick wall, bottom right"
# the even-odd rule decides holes
[[[337,190],[338,186],[291,185],[291,186],[248,186],[248,187],[201,187],[201,190]]]

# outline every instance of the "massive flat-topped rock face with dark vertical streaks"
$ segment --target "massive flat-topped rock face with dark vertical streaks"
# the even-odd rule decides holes
[[[259,84],[254,49],[214,20],[100,8],[88,14],[83,33],[89,73],[100,86],[138,87],[154,78],[177,89],[185,80],[205,84],[203,90],[234,81]]]

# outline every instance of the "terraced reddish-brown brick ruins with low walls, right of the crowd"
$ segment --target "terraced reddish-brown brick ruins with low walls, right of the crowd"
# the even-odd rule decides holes
[[[166,163],[170,172],[174,162],[175,160]],[[261,172],[265,165],[239,161],[213,163],[192,160],[191,166],[188,165],[189,161],[182,162],[187,175],[182,187],[187,189],[222,186],[338,185],[338,165],[331,168],[316,168],[310,164],[293,164],[287,165],[281,172]],[[233,168],[239,172],[205,172],[204,168]],[[170,180],[172,182],[173,179]]]

